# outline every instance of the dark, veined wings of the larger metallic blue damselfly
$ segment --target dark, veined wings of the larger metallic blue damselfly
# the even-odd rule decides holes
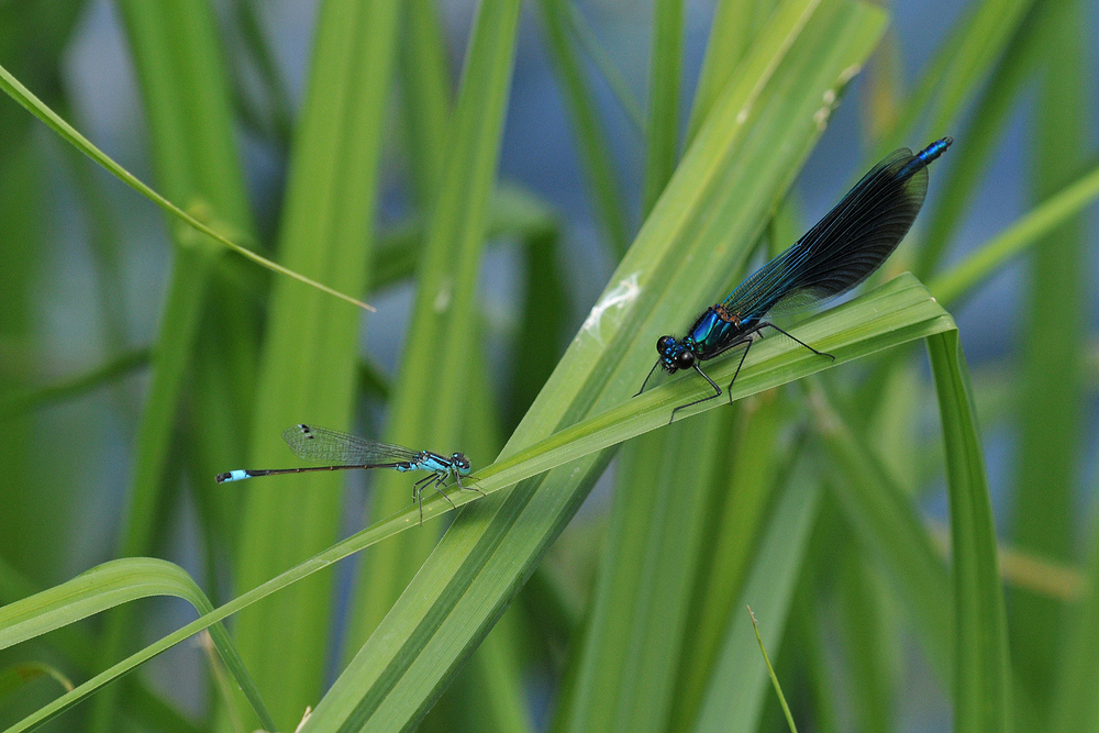
[[[740,285],[724,304],[741,318],[820,306],[865,280],[893,249],[923,206],[926,165],[892,152],[781,255]]]

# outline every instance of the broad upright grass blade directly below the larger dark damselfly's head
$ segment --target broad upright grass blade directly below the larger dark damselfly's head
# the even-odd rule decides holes
[[[710,489],[723,468],[721,418],[653,431],[623,452],[579,669],[556,730],[666,730],[693,628]]]

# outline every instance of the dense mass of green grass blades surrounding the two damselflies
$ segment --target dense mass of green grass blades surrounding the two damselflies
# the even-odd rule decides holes
[[[14,100],[0,105],[0,723],[290,731],[309,707],[303,731],[830,731],[848,720],[887,731],[931,704],[912,689],[937,687],[956,731],[1099,730],[1099,524],[1077,525],[1074,509],[1094,447],[1080,407],[1091,341],[1080,216],[1099,198],[1085,3],[973,2],[906,90],[876,4],[719,0],[701,73],[686,84],[691,5],[656,0],[641,113],[590,9],[542,0],[535,27],[615,262],[567,344],[573,222],[497,179],[522,3],[474,4],[451,69],[432,0],[322,0],[293,113],[262,4],[240,0],[220,18],[208,0],[120,0],[152,185],[78,132],[90,125],[58,82],[80,3],[53,23],[33,3],[0,4],[0,88]],[[42,36],[37,55],[27,34]],[[790,186],[868,64],[879,74],[867,151],[957,141],[931,170],[907,251],[858,297],[790,325],[834,362],[768,336],[729,390],[732,408],[723,396],[668,425],[707,388],[686,375],[634,397],[653,343],[723,295],[754,253],[801,231]],[[1035,85],[1031,206],[950,257],[1006,121]],[[612,155],[603,88],[644,151],[634,186]],[[285,197],[263,226],[237,124],[288,149]],[[42,284],[64,270],[44,225],[63,147],[92,230],[82,256],[102,311],[89,318],[108,334],[65,377],[36,325],[56,309]],[[92,164],[130,188],[119,193]],[[408,201],[396,224],[375,214],[385,187]],[[171,253],[163,303],[142,303],[157,313],[146,345],[114,312],[134,297],[123,265],[137,254],[109,197],[135,199],[131,189],[167,214]],[[275,242],[259,231],[277,231]],[[489,245],[526,268],[504,329],[480,308]],[[1026,322],[1018,358],[970,374],[945,309],[1023,255],[1020,312],[1045,315]],[[352,303],[391,286],[411,288],[414,303],[390,377],[374,366],[388,355],[362,353],[371,316]],[[488,344],[502,344],[507,369],[490,367]],[[724,386],[736,363],[708,373]],[[138,371],[148,379],[135,398],[127,377]],[[425,492],[421,526],[410,477],[373,471],[354,531],[346,473],[242,489],[212,480],[282,465],[288,424],[370,425],[378,407],[385,429],[365,432],[465,451],[477,491]],[[111,475],[118,524],[100,553],[112,559],[89,559],[73,525],[104,514],[86,509],[80,456],[119,430],[133,467]],[[990,492],[988,431],[1014,431],[1025,448],[1000,538],[991,497],[1000,509],[1007,487]],[[604,474],[612,498],[580,513]],[[945,554],[919,502],[942,486]],[[200,543],[187,569],[157,559],[180,527]],[[358,553],[354,571],[333,571]],[[71,577],[80,564],[91,569]],[[1065,584],[1042,576],[1084,590],[1057,592]],[[147,643],[165,628],[142,600],[154,596],[198,618]],[[174,690],[130,673],[200,633],[217,654],[192,718]],[[930,669],[921,685],[904,671],[913,656]],[[551,700],[541,719],[531,690]]]

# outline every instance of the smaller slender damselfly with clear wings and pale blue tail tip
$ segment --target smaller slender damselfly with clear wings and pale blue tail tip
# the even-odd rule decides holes
[[[452,507],[454,502],[440,490],[440,487],[452,476],[459,489],[484,493],[480,489],[467,487],[462,484],[462,477],[469,475],[469,460],[460,453],[451,454],[451,457],[447,458],[432,451],[413,451],[400,445],[378,443],[377,441],[369,441],[365,437],[341,433],[337,430],[317,427],[315,425],[287,427],[282,431],[282,440],[290,446],[293,454],[302,460],[328,465],[307,466],[304,468],[231,470],[225,474],[218,474],[218,482],[243,481],[246,478],[256,478],[258,476],[307,474],[314,470],[343,470],[351,468],[392,468],[399,471],[426,470],[431,471],[431,475],[412,485],[412,498],[415,499],[417,506],[420,507],[421,524],[423,524],[423,502],[420,495],[428,484],[432,481],[434,481],[435,491],[449,501]]]

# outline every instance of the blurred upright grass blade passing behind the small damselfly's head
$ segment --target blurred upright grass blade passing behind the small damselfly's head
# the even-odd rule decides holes
[[[390,402],[388,442],[446,453],[460,448],[473,367],[470,358],[449,355],[477,347],[470,336],[477,333],[477,276],[496,181],[518,22],[517,0],[486,2],[478,9],[462,90],[448,125],[439,198],[418,271],[408,345]],[[408,477],[395,471],[379,476],[371,515],[388,517],[407,507],[408,493]],[[364,559],[345,644],[348,658],[389,611],[436,537],[434,527],[409,534]]]

